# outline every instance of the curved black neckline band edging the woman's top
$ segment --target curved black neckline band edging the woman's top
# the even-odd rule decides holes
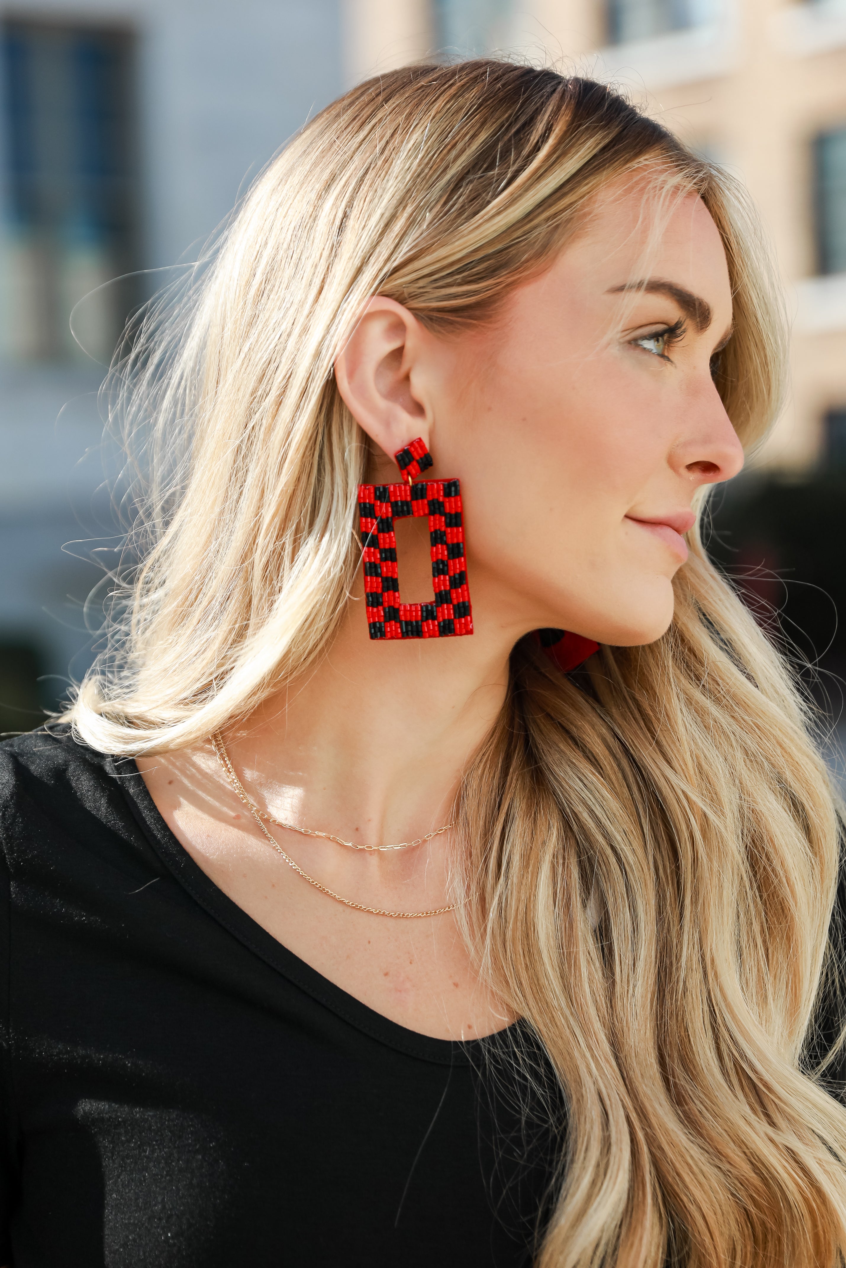
[[[481,1058],[485,1045],[490,1046],[491,1042],[501,1041],[510,1032],[512,1033],[515,1027],[520,1026],[519,1021],[511,1022],[502,1030],[492,1031],[478,1038],[436,1038],[434,1035],[424,1035],[407,1026],[401,1026],[400,1022],[392,1021],[375,1008],[356,999],[355,995],[336,985],[294,951],[290,951],[284,942],[274,938],[264,926],[259,924],[214,884],[167,827],[159,806],[150,795],[134,758],[108,757],[107,761],[109,773],[122,790],[145,837],[169,872],[194,902],[254,955],[350,1026],[396,1051],[438,1065],[474,1065]],[[128,770],[118,770],[118,762],[120,767],[128,767]]]

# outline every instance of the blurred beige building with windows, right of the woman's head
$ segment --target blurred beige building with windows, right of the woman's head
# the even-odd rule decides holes
[[[790,399],[758,462],[846,469],[845,0],[356,0],[356,18],[359,74],[502,49],[620,85],[738,176],[793,322]]]

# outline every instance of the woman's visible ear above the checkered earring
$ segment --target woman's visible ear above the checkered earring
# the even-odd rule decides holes
[[[375,295],[335,361],[350,413],[389,458],[416,436],[429,448],[430,418],[415,391],[426,335],[407,308]]]

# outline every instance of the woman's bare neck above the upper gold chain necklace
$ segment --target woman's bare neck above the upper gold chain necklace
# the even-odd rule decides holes
[[[278,818],[389,844],[452,818],[462,770],[502,706],[510,638],[370,642],[353,602],[323,661],[227,747]]]

